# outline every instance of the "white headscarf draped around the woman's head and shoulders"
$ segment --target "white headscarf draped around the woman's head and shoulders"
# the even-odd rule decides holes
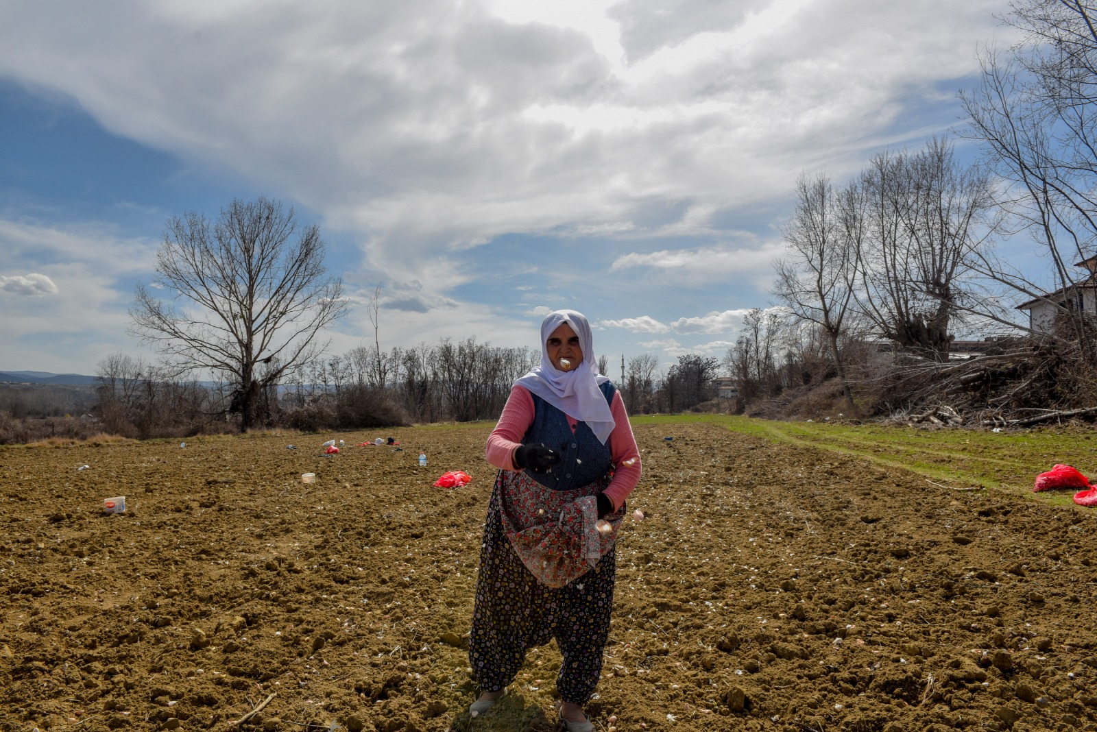
[[[559,370],[548,361],[548,336],[562,323],[572,327],[583,348],[583,363],[569,371]],[[609,378],[599,375],[595,363],[595,341],[587,319],[575,310],[555,310],[541,323],[541,365],[534,366],[514,384],[525,387],[565,414],[586,422],[598,442],[604,445],[614,426],[613,412],[598,389],[607,381]]]

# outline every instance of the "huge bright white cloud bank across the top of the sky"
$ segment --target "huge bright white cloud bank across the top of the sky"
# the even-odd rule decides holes
[[[787,195],[804,168],[825,161],[840,176],[866,149],[924,134],[909,108],[976,70],[999,10],[102,0],[58,14],[16,3],[0,12],[0,73],[369,232],[371,265],[410,279],[431,255],[502,232],[640,236],[651,197],[690,201],[695,230],[730,203]]]

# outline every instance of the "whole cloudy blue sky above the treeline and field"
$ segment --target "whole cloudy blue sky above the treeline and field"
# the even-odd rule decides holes
[[[8,0],[0,370],[149,354],[127,309],[168,218],[259,195],[320,226],[336,353],[381,285],[386,350],[534,346],[568,307],[612,364],[722,356],[796,176],[960,124],[1006,4]]]

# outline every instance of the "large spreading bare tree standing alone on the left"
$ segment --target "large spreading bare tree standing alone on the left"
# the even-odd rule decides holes
[[[154,285],[182,306],[138,285],[133,331],[173,368],[231,382],[241,432],[261,392],[321,354],[320,331],[346,310],[341,281],[326,275],[319,228],[299,227],[292,208],[268,198],[234,201],[215,222],[193,211],[171,219],[156,272]]]

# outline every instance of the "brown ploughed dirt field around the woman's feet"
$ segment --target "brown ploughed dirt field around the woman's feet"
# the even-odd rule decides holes
[[[488,432],[0,449],[0,729],[552,729],[552,644],[464,711]],[[1097,730],[1094,510],[636,432],[597,730]]]

